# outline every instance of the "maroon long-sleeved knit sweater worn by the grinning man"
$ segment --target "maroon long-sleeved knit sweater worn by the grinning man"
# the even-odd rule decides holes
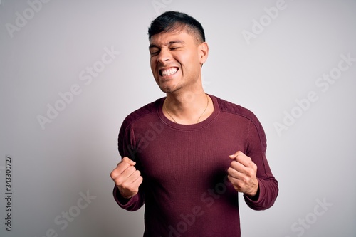
[[[195,125],[163,115],[164,98],[132,112],[120,129],[122,157],[137,162],[143,183],[129,201],[115,186],[117,204],[135,211],[145,204],[145,237],[241,236],[238,192],[227,180],[229,154],[244,152],[257,165],[258,195],[246,204],[271,207],[278,183],[266,159],[266,136],[255,115],[210,95],[214,112]]]

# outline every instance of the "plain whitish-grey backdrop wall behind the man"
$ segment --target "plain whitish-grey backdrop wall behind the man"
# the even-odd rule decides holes
[[[267,211],[241,200],[242,236],[356,236],[356,1],[38,2],[0,2],[0,236],[142,236],[143,209],[117,206],[109,174],[120,161],[122,120],[164,96],[150,71],[147,28],[167,10],[204,26],[206,93],[252,110],[266,131],[280,194]],[[100,64],[105,48],[116,52],[108,65]],[[94,65],[105,68],[80,80]],[[322,86],[330,73],[336,79]],[[73,86],[80,93],[58,102]],[[317,99],[305,102],[310,92]],[[62,111],[49,119],[55,105]],[[277,123],[286,127],[278,132]]]

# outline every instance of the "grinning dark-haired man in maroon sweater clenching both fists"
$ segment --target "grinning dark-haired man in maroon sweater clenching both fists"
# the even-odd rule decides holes
[[[165,12],[149,40],[152,73],[167,96],[122,123],[122,160],[110,174],[115,200],[128,211],[145,204],[145,237],[241,236],[239,192],[255,210],[278,195],[263,128],[244,107],[204,93],[209,47],[198,21]]]

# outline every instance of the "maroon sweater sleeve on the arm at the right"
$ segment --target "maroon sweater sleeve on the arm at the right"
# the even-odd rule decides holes
[[[251,198],[244,195],[246,204],[253,210],[266,210],[273,206],[278,196],[278,181],[273,176],[266,159],[266,135],[256,120],[251,122],[247,135],[247,156],[257,165],[258,193]]]

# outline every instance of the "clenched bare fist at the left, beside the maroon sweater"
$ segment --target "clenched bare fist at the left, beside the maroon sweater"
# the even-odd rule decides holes
[[[128,157],[122,158],[117,167],[110,173],[111,179],[115,182],[120,194],[125,199],[130,199],[138,192],[138,187],[142,184],[142,176],[135,168],[136,162]]]

